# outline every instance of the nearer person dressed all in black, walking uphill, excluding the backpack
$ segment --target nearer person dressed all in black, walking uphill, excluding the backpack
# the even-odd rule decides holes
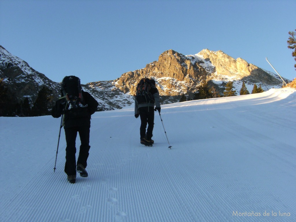
[[[75,76],[70,76],[75,77]],[[67,76],[64,78],[64,80]],[[75,77],[77,78],[77,77]],[[79,78],[78,78],[79,79]],[[63,82],[64,82],[63,80]],[[63,83],[62,83],[63,84]],[[65,83],[64,83],[65,84]],[[65,173],[67,174],[67,179],[70,183],[74,184],[76,181],[76,170],[80,173],[80,176],[87,177],[88,173],[85,170],[87,166],[87,158],[89,157],[89,133],[91,126],[91,115],[96,112],[98,107],[98,102],[91,96],[88,92],[84,92],[80,86],[79,80],[79,90],[81,102],[83,105],[79,105],[76,108],[71,108],[71,98],[69,96],[63,96],[56,101],[54,107],[52,108],[52,116],[54,118],[59,118],[64,114],[63,126],[65,129],[66,136],[66,163],[65,163]],[[77,96],[78,97],[78,96]],[[80,98],[82,97],[82,98]],[[75,97],[76,98],[76,97]],[[79,133],[81,146],[79,150],[79,156],[77,160],[76,168],[76,136]]]

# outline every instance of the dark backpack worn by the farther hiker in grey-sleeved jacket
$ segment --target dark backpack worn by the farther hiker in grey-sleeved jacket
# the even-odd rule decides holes
[[[137,85],[136,88],[136,100],[139,104],[141,103],[153,103],[154,104],[154,97],[150,92],[152,88],[152,84],[149,78],[143,78]]]

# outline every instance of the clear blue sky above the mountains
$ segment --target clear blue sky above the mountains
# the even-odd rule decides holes
[[[114,80],[168,49],[222,50],[296,77],[288,32],[295,0],[0,0],[0,45],[60,82]]]

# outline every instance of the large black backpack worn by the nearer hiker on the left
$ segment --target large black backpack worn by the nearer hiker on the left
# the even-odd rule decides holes
[[[74,75],[65,76],[62,81],[62,97],[66,98],[67,106],[65,110],[86,108],[87,104],[83,100],[82,88],[80,79]],[[81,113],[81,111],[72,111],[74,113]],[[78,114],[76,114],[78,115]]]

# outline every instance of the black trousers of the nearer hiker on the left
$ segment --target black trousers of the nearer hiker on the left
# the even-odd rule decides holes
[[[66,136],[66,163],[65,173],[68,176],[76,175],[76,137],[79,133],[81,146],[79,150],[79,156],[77,164],[82,164],[85,168],[87,166],[87,158],[89,157],[89,132],[90,126],[76,126],[71,128],[65,128]]]

